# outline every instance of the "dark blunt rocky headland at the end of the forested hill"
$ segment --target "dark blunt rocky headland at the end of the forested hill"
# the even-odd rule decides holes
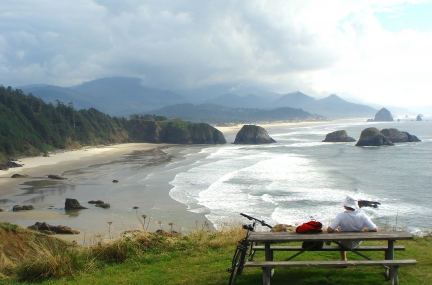
[[[130,136],[137,141],[175,144],[225,144],[222,132],[206,123],[183,120],[130,121]]]

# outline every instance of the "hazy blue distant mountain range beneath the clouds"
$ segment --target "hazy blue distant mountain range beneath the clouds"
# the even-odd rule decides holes
[[[227,93],[216,98],[206,98],[206,94],[202,94],[198,100],[196,94],[182,96],[169,90],[144,87],[140,85],[140,82],[139,78],[105,77],[72,87],[38,84],[17,87],[17,89],[21,89],[25,94],[32,93],[35,97],[40,97],[45,102],[51,102],[54,105],[57,100],[64,104],[72,102],[75,109],[93,107],[111,116],[125,117],[156,111],[161,112],[155,113],[157,115],[171,117],[164,113],[166,109],[163,107],[184,103],[199,106],[203,102],[213,104],[211,106],[219,105],[234,109],[273,110],[289,107],[328,118],[372,118],[377,112],[374,108],[345,101],[335,94],[319,100],[301,92],[292,92],[279,97],[275,97],[275,94],[265,97],[254,94],[239,96]]]

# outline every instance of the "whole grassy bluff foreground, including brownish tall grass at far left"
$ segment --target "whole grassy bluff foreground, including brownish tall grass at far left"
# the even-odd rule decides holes
[[[1,243],[0,284],[228,284],[226,268],[236,241],[244,234],[236,229],[197,230],[171,237],[136,231],[118,240],[82,247],[6,223],[0,223],[0,229],[1,239],[17,240]],[[404,245],[406,251],[396,252],[396,259],[418,262],[399,269],[400,284],[431,284],[430,236],[397,244]],[[257,253],[255,259],[262,255]],[[382,255],[373,253],[371,257]],[[277,253],[275,259],[286,256]],[[354,254],[348,258],[357,259]],[[296,259],[332,260],[339,259],[339,253],[307,252]],[[277,268],[272,284],[389,284],[383,273],[381,267]],[[262,284],[261,269],[247,269],[237,284]]]

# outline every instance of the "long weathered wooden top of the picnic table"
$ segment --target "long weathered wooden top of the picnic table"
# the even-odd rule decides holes
[[[334,240],[409,240],[413,235],[405,231],[335,232],[298,234],[295,232],[253,232],[250,242],[334,241]]]

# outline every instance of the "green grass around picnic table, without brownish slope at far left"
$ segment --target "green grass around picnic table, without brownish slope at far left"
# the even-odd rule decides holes
[[[59,261],[63,265],[58,266],[65,275],[47,275],[38,284],[228,284],[229,273],[226,269],[230,266],[236,240],[242,234],[239,230],[216,233],[197,231],[183,237],[137,233],[125,235],[123,239],[113,242],[96,244],[91,249],[78,246],[81,253],[70,251],[70,254],[64,254],[56,251],[51,255],[61,257]],[[384,243],[363,243],[380,244]],[[432,258],[429,252],[432,239],[416,237],[397,244],[404,245],[406,251],[395,252],[395,259],[416,259],[418,262],[415,266],[402,266],[399,269],[400,284],[431,284]],[[277,252],[275,260],[283,260],[289,254]],[[263,255],[263,252],[257,253],[255,260],[262,260]],[[368,255],[382,259],[384,253],[372,252]],[[68,258],[72,261],[65,260]],[[348,258],[361,259],[353,253],[348,253]],[[339,252],[306,252],[296,257],[296,260],[337,259]],[[7,278],[0,280],[0,284],[23,284],[17,281],[19,275],[29,271],[32,263],[43,264],[43,260],[47,258],[31,260],[32,262],[24,263],[17,270],[9,272],[9,275],[3,271],[3,277]],[[48,261],[47,263],[45,267],[42,266],[45,269],[41,272],[52,266]],[[69,271],[65,269],[68,267]],[[381,267],[276,268],[271,284],[389,284],[383,273]],[[24,284],[33,283],[27,281]],[[262,284],[261,269],[248,268],[237,284]]]

